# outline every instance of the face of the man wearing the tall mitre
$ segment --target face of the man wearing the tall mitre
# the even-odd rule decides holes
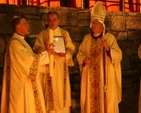
[[[99,21],[93,21],[92,22],[92,27],[91,27],[92,31],[94,32],[94,34],[99,34],[102,32],[103,30],[103,25],[101,22]]]

